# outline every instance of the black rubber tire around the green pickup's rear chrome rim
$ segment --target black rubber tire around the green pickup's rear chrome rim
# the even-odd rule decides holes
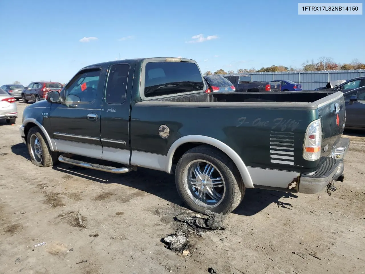
[[[191,174],[190,172],[194,172],[189,171],[193,168],[191,163],[197,160],[202,160],[203,165],[205,161],[211,163],[215,167],[214,170],[218,171],[223,179],[224,191],[222,198],[216,205],[207,205],[207,203],[204,202],[204,199],[202,200],[195,195],[196,193],[194,194],[194,188],[188,183],[187,175]],[[199,161],[197,163],[199,163]],[[204,211],[208,209],[212,212],[228,214],[241,203],[246,190],[233,161],[223,152],[208,145],[192,148],[180,158],[176,165],[175,183],[177,192],[185,204],[192,210],[200,213],[204,213]],[[188,191],[190,191],[190,193]]]

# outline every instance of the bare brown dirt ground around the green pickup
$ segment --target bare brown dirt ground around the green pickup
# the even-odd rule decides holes
[[[0,273],[365,271],[364,133],[345,132],[345,180],[331,196],[247,189],[226,229],[192,235],[183,255],[161,242],[185,209],[173,175],[37,167],[18,130],[27,105],[15,125],[0,121]]]

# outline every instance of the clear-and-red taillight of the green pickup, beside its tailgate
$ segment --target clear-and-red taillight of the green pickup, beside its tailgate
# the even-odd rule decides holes
[[[309,124],[303,145],[303,158],[308,161],[318,160],[322,146],[322,126],[320,119]]]

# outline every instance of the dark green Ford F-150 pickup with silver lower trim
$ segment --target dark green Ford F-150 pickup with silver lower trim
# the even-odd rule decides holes
[[[174,173],[197,212],[229,213],[246,188],[312,194],[343,180],[342,92],[207,90],[185,58],[86,66],[24,110],[20,134],[39,167]]]

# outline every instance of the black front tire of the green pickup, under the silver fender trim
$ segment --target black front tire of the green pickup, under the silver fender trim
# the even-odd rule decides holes
[[[42,157],[38,157],[35,154],[33,138],[38,138],[39,140],[39,145],[42,148]],[[27,146],[32,163],[37,165],[38,167],[50,167],[52,165],[57,164],[58,153],[51,151],[48,142],[46,140],[46,137],[44,136],[42,130],[39,129],[37,126],[31,128],[28,131]]]

